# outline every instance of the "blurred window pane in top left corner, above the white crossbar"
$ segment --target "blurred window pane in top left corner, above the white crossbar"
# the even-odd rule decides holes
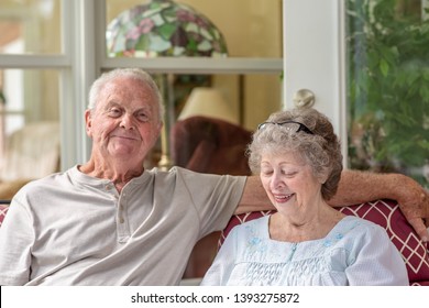
[[[59,54],[61,0],[2,0],[0,54]]]

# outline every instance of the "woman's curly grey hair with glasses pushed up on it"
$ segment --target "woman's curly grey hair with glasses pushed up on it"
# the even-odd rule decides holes
[[[326,179],[321,187],[323,199],[332,198],[341,177],[342,154],[340,141],[329,119],[316,109],[296,108],[273,113],[267,121],[270,124],[254,132],[246,151],[252,173],[260,173],[263,154],[294,153],[311,166],[316,177]],[[307,131],[297,130],[297,127],[290,130],[288,121],[301,123]]]

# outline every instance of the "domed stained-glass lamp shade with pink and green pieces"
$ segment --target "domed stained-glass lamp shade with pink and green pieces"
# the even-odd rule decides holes
[[[123,11],[106,31],[111,57],[224,57],[221,32],[204,14],[170,0],[151,0]]]

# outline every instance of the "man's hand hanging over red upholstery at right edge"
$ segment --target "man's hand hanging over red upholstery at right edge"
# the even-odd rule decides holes
[[[416,180],[403,176],[398,178],[397,197],[399,208],[409,224],[424,242],[429,241],[429,193]]]

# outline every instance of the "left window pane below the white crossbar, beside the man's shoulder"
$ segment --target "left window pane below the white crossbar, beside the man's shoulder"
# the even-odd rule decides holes
[[[0,182],[58,170],[58,72],[6,69],[0,76]]]

